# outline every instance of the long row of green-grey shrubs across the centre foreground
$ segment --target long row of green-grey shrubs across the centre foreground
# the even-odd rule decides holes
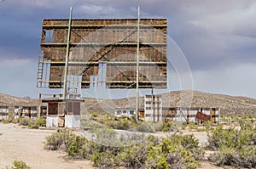
[[[118,139],[112,129],[95,128],[91,132],[96,136],[93,141],[61,130],[46,138],[45,148],[64,149],[72,158],[90,159],[101,168],[194,169],[203,156],[199,141],[193,135],[172,135],[169,138],[149,135],[147,138],[132,136],[131,139]]]

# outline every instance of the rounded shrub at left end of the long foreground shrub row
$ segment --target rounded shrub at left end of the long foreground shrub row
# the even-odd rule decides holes
[[[44,144],[44,149],[67,150],[68,145],[71,144],[75,139],[75,135],[70,130],[63,129],[53,133],[52,135],[46,137],[45,139],[46,139],[46,142]]]

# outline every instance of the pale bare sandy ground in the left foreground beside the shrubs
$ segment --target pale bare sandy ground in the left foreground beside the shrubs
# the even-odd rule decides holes
[[[0,123],[0,168],[12,166],[13,161],[25,161],[32,169],[94,168],[90,161],[71,161],[64,158],[65,152],[45,150],[44,138],[53,132]]]

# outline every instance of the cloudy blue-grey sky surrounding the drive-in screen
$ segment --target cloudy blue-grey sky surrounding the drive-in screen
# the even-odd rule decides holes
[[[168,50],[169,90],[256,98],[255,0],[1,0],[0,93],[44,91],[36,88],[43,19],[68,18],[70,6],[74,18],[136,17],[137,5],[143,18],[168,19],[168,42],[182,51]]]

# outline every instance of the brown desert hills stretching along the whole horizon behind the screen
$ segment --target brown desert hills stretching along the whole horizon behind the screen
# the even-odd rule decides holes
[[[234,97],[224,94],[202,93],[198,91],[183,90],[160,94],[163,107],[202,107],[220,108],[221,113],[256,114],[256,99],[247,97]],[[17,98],[0,93],[0,105],[38,105],[38,99]],[[140,109],[144,101],[140,98]],[[136,98],[127,99],[89,99],[84,98],[81,106],[84,112],[109,112],[115,109],[135,109]]]

